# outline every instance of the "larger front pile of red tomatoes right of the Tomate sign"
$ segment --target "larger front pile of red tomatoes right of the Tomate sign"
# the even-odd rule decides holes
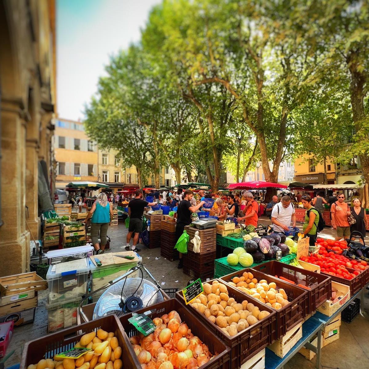
[[[317,254],[301,256],[302,261],[320,266],[320,271],[339,278],[351,280],[368,268],[366,261],[357,261],[345,258],[343,255],[327,251],[321,246]],[[348,268],[348,269],[347,269]]]

